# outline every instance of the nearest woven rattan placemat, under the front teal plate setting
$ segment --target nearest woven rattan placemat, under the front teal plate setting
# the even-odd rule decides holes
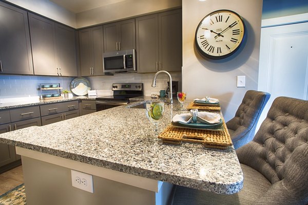
[[[232,140],[223,121],[224,130],[196,130],[177,128],[171,124],[158,136],[164,143],[181,145],[182,142],[196,142],[204,147],[226,149]]]

